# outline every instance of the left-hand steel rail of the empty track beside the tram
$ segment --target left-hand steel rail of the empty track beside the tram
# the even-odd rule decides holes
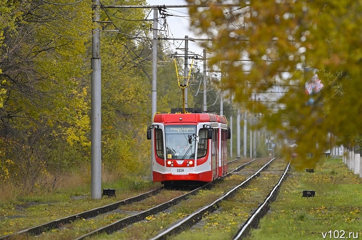
[[[167,239],[170,235],[180,233],[183,229],[192,226],[196,224],[198,221],[200,221],[205,213],[213,212],[219,208],[219,204],[221,201],[228,199],[229,197],[233,196],[239,190],[241,187],[248,184],[253,178],[260,175],[260,172],[268,168],[269,164],[274,160],[275,158],[272,158],[268,163],[266,163],[263,167],[261,167],[255,174],[253,174],[251,177],[246,179],[244,182],[242,182],[240,185],[236,186],[229,192],[225,193],[222,197],[218,198],[211,204],[208,204],[204,206],[203,208],[199,209],[198,211],[190,214],[174,226],[166,229],[164,232],[160,233],[156,237],[152,238],[151,240],[159,240],[159,239]]]

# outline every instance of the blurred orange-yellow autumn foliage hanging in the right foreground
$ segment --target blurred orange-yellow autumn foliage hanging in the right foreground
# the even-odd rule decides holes
[[[214,39],[209,63],[227,74],[223,88],[262,113],[269,130],[296,141],[301,155],[313,154],[299,167],[314,166],[331,140],[348,143],[361,134],[361,1],[188,2],[195,31]],[[312,74],[305,68],[317,69],[324,85],[313,104],[307,104]],[[272,106],[248,101],[275,85],[284,90]]]

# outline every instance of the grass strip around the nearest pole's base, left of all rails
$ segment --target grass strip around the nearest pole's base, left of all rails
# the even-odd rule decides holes
[[[0,237],[111,204],[162,185],[153,184],[149,180],[122,179],[106,186],[117,190],[116,197],[103,196],[101,199],[92,199],[89,186],[82,186],[78,189],[58,189],[54,192],[18,195],[16,199],[0,201]]]

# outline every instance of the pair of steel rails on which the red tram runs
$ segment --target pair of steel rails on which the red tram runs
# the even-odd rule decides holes
[[[230,165],[233,165],[233,164],[235,165],[235,162],[237,162],[237,160],[238,159],[230,161],[229,164]],[[254,160],[256,160],[256,159],[253,159],[251,161],[248,161],[248,162],[242,164],[240,167],[236,168],[233,171],[240,171],[243,167],[250,164]],[[214,185],[216,182],[212,182],[210,184],[202,186],[202,187],[200,187],[198,189],[195,189],[193,191],[184,193],[179,197],[173,198],[173,199],[171,199],[169,201],[166,201],[163,204],[160,204],[160,205],[158,205],[156,207],[145,210],[145,211],[143,211],[141,213],[132,214],[131,216],[125,217],[125,218],[123,218],[124,219],[123,221],[117,221],[117,224],[115,224],[112,227],[109,227],[109,229],[115,229],[115,226],[118,226],[118,227],[123,226],[124,227],[124,226],[132,224],[134,222],[145,219],[150,214],[155,214],[157,212],[160,212],[160,211],[163,211],[163,210],[169,208],[172,205],[177,204],[181,200],[186,199],[189,195],[195,194],[195,193],[197,193],[198,191],[200,191],[202,189],[207,189],[207,188],[212,187],[212,185]],[[95,208],[95,209],[92,209],[92,210],[89,210],[89,211],[85,211],[85,212],[74,214],[74,215],[71,215],[71,216],[68,216],[68,217],[63,217],[63,218],[60,218],[60,219],[57,219],[57,220],[53,220],[53,221],[47,222],[45,224],[41,224],[41,225],[38,225],[38,226],[35,226],[35,227],[24,229],[22,231],[19,231],[19,232],[13,233],[13,234],[1,236],[0,239],[6,239],[7,240],[7,239],[17,239],[19,236],[39,236],[39,235],[41,235],[41,234],[43,234],[43,233],[45,233],[47,231],[50,231],[50,230],[64,228],[64,226],[66,226],[68,224],[71,224],[71,223],[73,223],[75,221],[91,219],[91,218],[95,218],[95,217],[97,217],[98,215],[101,215],[101,214],[110,213],[112,211],[117,210],[122,205],[127,205],[127,204],[131,204],[131,203],[135,203],[135,202],[140,202],[140,201],[142,201],[142,200],[144,200],[146,198],[150,198],[152,196],[160,194],[160,192],[162,192],[162,191],[165,191],[165,189],[164,188],[159,188],[159,189],[156,189],[156,190],[153,190],[153,191],[150,191],[150,192],[145,192],[145,193],[139,194],[139,195],[134,196],[134,197],[130,197],[130,198],[127,198],[127,199],[124,199],[124,200],[121,200],[121,201],[118,201],[118,202],[115,202],[115,203],[112,203],[112,204],[108,204],[108,205],[103,206],[103,207]],[[108,232],[108,233],[112,232],[107,227],[105,227],[105,229],[107,229],[105,232]]]

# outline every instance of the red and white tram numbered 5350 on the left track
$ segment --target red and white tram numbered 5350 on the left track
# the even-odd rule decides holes
[[[165,187],[195,185],[227,173],[227,140],[231,133],[226,117],[192,111],[176,113],[172,109],[171,113],[155,114],[153,124],[148,126],[153,182]]]

